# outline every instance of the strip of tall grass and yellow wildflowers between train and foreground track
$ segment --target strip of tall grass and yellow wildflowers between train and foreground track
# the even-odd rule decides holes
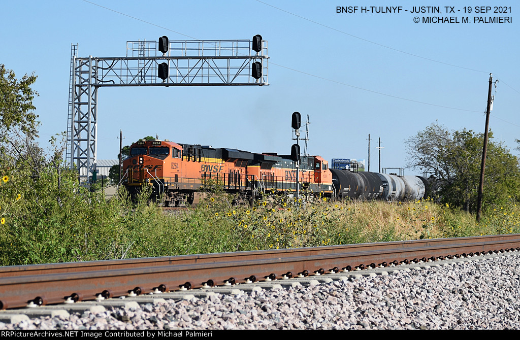
[[[163,213],[143,192],[106,201],[56,173],[23,186],[2,177],[0,265],[155,257],[520,232],[514,201],[475,216],[430,199],[415,202],[258,198],[235,206],[214,193],[185,214]],[[24,178],[23,180],[29,180]],[[45,193],[47,192],[47,193]]]

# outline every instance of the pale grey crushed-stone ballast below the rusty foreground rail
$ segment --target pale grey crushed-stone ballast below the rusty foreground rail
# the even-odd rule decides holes
[[[520,255],[479,258],[325,284],[0,322],[0,330],[520,329]]]

